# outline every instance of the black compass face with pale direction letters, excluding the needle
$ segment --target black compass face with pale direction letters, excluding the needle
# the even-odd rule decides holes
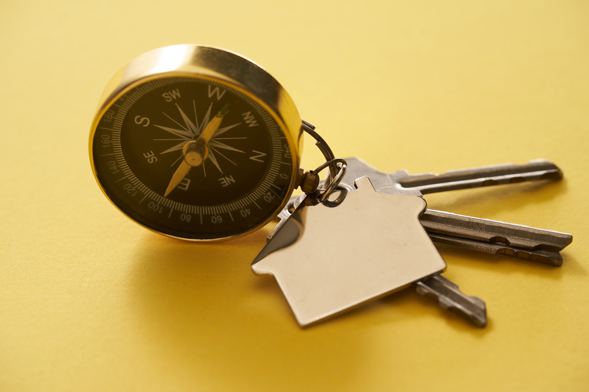
[[[226,105],[209,155],[164,196],[184,162],[184,145]],[[196,77],[155,79],[121,96],[98,122],[92,159],[102,189],[121,211],[184,239],[249,232],[292,191],[292,152],[272,116],[244,93]]]

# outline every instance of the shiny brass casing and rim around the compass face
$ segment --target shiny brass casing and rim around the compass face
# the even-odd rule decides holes
[[[292,176],[290,180],[290,192],[280,203],[280,206],[274,213],[259,226],[247,230],[236,236],[224,237],[219,239],[186,239],[183,237],[171,236],[154,230],[152,227],[143,225],[132,217],[128,216],[120,209],[111,199],[110,195],[105,192],[104,187],[98,179],[96,168],[94,167],[94,158],[92,157],[92,147],[94,143],[94,133],[96,132],[98,122],[104,113],[112,106],[113,103],[131,89],[153,81],[154,79],[169,78],[171,76],[187,76],[199,79],[209,79],[214,82],[222,83],[230,88],[236,89],[241,93],[249,96],[255,102],[262,106],[276,123],[282,128],[287,144],[292,156]],[[262,66],[252,60],[239,55],[238,53],[227,51],[226,49],[216,48],[207,45],[171,45],[163,48],[154,49],[153,51],[143,53],[143,55],[130,61],[121,68],[104,88],[98,109],[90,129],[90,165],[94,177],[108,200],[117,207],[125,216],[133,222],[144,226],[153,232],[163,234],[168,237],[180,238],[191,241],[213,242],[237,238],[254,232],[260,227],[269,223],[279,212],[286,206],[290,195],[296,185],[297,173],[300,166],[300,159],[303,153],[303,131],[299,111],[290,95],[284,90],[276,79],[273,78]]]

